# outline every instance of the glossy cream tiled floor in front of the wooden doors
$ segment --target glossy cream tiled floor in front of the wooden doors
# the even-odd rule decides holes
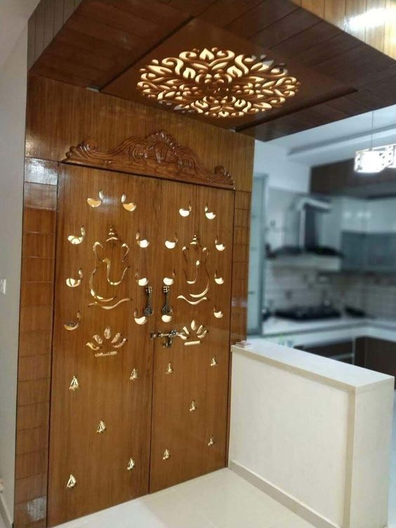
[[[312,528],[224,469],[62,524],[62,528]]]

